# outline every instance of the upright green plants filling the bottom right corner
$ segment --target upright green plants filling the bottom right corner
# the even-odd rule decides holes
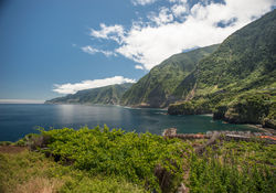
[[[261,142],[222,142],[190,159],[190,192],[273,193],[276,147]]]

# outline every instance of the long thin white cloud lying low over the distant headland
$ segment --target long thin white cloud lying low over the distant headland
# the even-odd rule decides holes
[[[107,77],[104,79],[87,79],[75,84],[55,84],[53,92],[59,94],[75,94],[82,89],[98,88],[108,85],[123,84],[123,83],[135,83],[135,79],[125,78],[123,76]]]

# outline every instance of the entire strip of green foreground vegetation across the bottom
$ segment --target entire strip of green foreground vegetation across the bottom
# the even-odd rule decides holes
[[[106,126],[41,130],[0,146],[0,192],[275,191],[275,144],[221,139],[195,153],[202,143]]]

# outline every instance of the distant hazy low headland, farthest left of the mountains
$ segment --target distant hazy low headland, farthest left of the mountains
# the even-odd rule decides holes
[[[118,105],[123,94],[130,88],[132,84],[110,85],[99,88],[84,89],[76,94],[64,97],[53,98],[46,104],[103,104]]]

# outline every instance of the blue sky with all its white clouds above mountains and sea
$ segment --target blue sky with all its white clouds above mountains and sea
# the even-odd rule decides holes
[[[223,42],[276,0],[0,0],[0,103],[135,83]]]

